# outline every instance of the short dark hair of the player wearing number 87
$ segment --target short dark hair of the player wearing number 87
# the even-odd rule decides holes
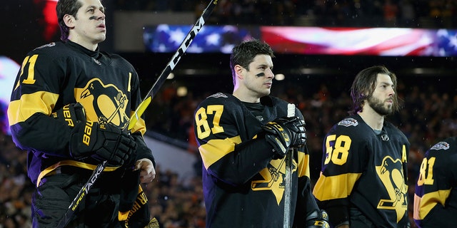
[[[274,57],[273,50],[268,43],[258,41],[256,39],[243,41],[232,49],[230,56],[231,75],[233,77],[233,85],[235,85],[236,73],[235,66],[239,65],[249,71],[249,64],[257,55],[268,55]]]

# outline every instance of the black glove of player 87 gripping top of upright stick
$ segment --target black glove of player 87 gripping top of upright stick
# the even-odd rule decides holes
[[[298,117],[276,118],[262,126],[265,138],[279,158],[286,155],[289,147],[300,147],[306,144],[305,122]]]

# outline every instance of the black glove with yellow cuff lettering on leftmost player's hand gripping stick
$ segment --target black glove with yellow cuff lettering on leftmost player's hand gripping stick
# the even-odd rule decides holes
[[[76,160],[92,157],[119,166],[129,162],[135,150],[135,139],[112,124],[81,121],[71,132],[70,155]]]

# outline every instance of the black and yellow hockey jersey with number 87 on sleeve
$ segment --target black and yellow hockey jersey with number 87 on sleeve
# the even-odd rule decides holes
[[[261,103],[265,108],[253,115],[233,95],[216,93],[196,108],[206,227],[283,227],[286,164],[284,159],[272,160],[273,147],[261,135],[261,126],[287,116],[287,103],[271,96]],[[298,109],[296,116],[303,119]],[[294,227],[304,227],[307,212],[317,209],[308,160],[306,147],[299,148],[293,159]]]

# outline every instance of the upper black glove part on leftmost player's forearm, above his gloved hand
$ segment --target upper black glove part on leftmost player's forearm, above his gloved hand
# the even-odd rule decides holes
[[[56,112],[52,113],[52,117],[56,120],[61,120],[69,127],[74,128],[76,123],[86,120],[86,113],[84,113],[83,105],[80,103],[71,103],[56,110]]]

